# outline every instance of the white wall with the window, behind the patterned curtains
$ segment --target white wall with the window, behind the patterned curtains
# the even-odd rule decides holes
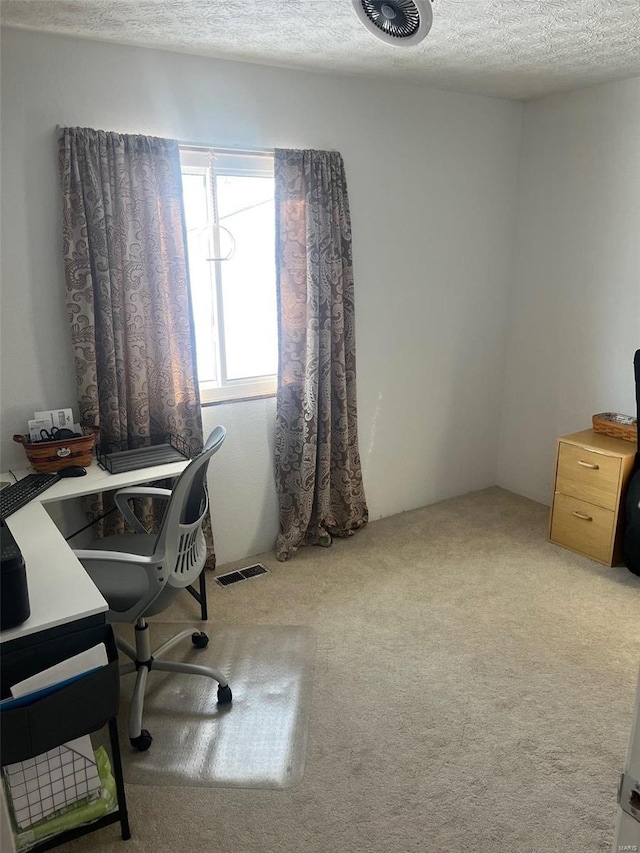
[[[75,400],[55,126],[335,148],[353,219],[360,448],[372,518],[495,483],[519,104],[21,31],[2,40],[2,464],[34,409]],[[229,428],[221,561],[277,530],[273,400]]]

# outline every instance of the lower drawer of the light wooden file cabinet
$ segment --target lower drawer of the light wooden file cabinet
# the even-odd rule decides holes
[[[615,519],[612,510],[556,492],[549,538],[557,545],[610,564]]]

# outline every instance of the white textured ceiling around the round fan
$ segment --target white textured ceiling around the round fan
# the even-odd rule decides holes
[[[386,45],[350,0],[2,0],[2,23],[507,98],[640,75],[640,0],[435,0],[415,47]]]

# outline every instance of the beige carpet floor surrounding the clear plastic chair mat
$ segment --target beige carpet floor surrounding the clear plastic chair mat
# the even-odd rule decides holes
[[[122,846],[107,827],[68,849],[610,850],[640,579],[546,534],[545,507],[488,489],[377,521],[290,563],[266,555],[270,572],[252,580],[210,583],[214,619],[316,632],[302,782],[132,785],[132,840]],[[171,615],[191,614],[185,596]]]

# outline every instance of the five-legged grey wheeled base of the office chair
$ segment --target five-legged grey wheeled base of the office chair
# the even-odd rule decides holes
[[[125,640],[116,639],[120,651],[131,659],[130,662],[120,665],[120,675],[128,675],[132,672],[136,673],[136,684],[133,689],[131,707],[129,709],[129,740],[135,749],[144,752],[149,749],[153,740],[149,731],[142,728],[144,693],[147,678],[151,670],[181,672],[185,675],[202,675],[205,678],[211,678],[213,681],[218,682],[218,703],[226,705],[232,701],[231,688],[219,670],[192,663],[164,660],[161,657],[161,655],[187,637],[191,638],[191,642],[196,648],[204,648],[209,639],[202,631],[194,631],[193,628],[188,628],[171,637],[166,643],[162,643],[162,645],[152,651],[149,641],[149,625],[144,618],[140,618],[135,625],[135,637],[135,648]]]

